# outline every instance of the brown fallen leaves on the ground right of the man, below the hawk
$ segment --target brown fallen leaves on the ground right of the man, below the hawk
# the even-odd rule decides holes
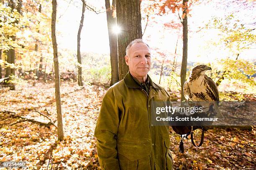
[[[172,152],[179,153],[176,137],[171,135]],[[175,168],[183,169],[236,169],[251,168],[255,163],[255,134],[249,130],[210,129],[200,148],[192,146],[190,139],[184,140],[184,154],[179,154]],[[189,148],[190,147],[190,148]],[[186,163],[184,163],[184,159]],[[239,162],[239,163],[238,163]]]

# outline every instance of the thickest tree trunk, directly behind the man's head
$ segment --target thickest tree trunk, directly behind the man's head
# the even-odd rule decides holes
[[[137,38],[142,38],[141,0],[118,0],[116,2],[117,25],[121,27],[118,34],[119,80],[122,80],[129,67],[125,63],[127,45]]]

